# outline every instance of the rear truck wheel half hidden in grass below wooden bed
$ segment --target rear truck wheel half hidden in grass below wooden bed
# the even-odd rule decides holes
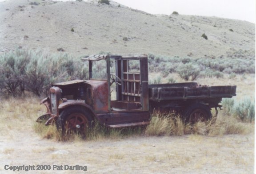
[[[212,118],[211,108],[205,104],[192,104],[182,114],[186,123],[195,124],[198,121],[207,121]]]

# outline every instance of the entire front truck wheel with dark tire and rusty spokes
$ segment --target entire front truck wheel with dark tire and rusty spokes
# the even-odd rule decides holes
[[[92,115],[81,107],[67,108],[60,113],[57,127],[64,135],[72,132],[86,135],[88,128],[92,127]]]

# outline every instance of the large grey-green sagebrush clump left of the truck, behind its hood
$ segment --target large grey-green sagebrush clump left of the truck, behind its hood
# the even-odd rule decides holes
[[[0,55],[0,93],[6,97],[18,97],[24,91],[45,95],[52,83],[87,77],[82,67],[80,59],[68,54],[16,49]]]

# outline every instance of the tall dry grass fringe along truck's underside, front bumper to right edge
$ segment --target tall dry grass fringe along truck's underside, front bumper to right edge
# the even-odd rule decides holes
[[[104,139],[122,139],[131,136],[182,136],[188,134],[222,136],[227,134],[246,135],[253,132],[252,123],[241,122],[235,116],[228,116],[220,112],[219,116],[212,117],[207,122],[197,122],[187,124],[181,116],[175,113],[162,113],[154,111],[151,116],[151,122],[144,128],[106,128],[96,122],[93,128],[86,131],[85,136],[78,134],[63,136],[57,131],[55,126],[46,127],[44,124],[36,123],[34,130],[43,138],[55,139],[57,141],[74,141],[75,139],[86,139],[89,141],[98,141]]]

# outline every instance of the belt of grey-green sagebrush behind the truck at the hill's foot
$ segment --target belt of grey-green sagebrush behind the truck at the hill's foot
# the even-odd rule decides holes
[[[63,48],[57,50],[64,51]],[[100,52],[99,54],[111,53]],[[246,57],[242,57],[242,55],[246,55]],[[44,66],[46,64],[48,66]],[[148,54],[149,72],[161,72],[155,78],[149,78],[151,84],[168,82],[168,76],[173,73],[179,74],[185,81],[193,81],[199,77],[223,78],[225,74],[229,74],[230,78],[235,78],[238,74],[254,74],[254,65],[254,57],[242,50],[229,54],[227,58],[214,59],[208,57],[179,58]],[[94,68],[98,70],[98,73],[94,74],[95,78],[105,77],[105,69],[102,66],[101,63],[96,63]],[[133,66],[133,69],[139,68],[137,65]],[[50,83],[87,77],[86,65],[84,65],[84,68],[82,67],[83,64],[81,64],[79,58],[73,58],[68,54],[48,54],[40,50],[17,48],[14,51],[0,55],[0,93],[6,97],[18,97],[23,95],[25,91],[32,91],[36,95],[39,95],[42,91],[47,93],[49,88],[47,85]],[[44,72],[52,75],[45,76]],[[34,81],[27,82],[25,80],[30,78]],[[165,80],[165,78],[167,79]],[[170,82],[173,82],[173,80],[170,80]]]

